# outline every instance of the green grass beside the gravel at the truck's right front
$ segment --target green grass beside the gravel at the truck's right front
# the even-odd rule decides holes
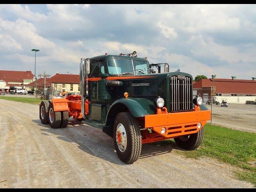
[[[174,140],[161,141],[176,146]],[[189,158],[208,156],[242,168],[237,172],[240,180],[256,186],[256,134],[232,130],[220,126],[204,126],[204,140],[193,151],[179,151]]]

